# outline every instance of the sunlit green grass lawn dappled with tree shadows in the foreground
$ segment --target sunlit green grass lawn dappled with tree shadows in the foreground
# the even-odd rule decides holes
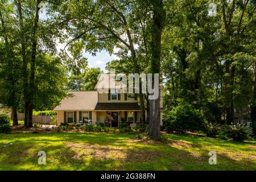
[[[0,134],[0,170],[256,170],[256,141],[166,137],[154,142],[136,134]],[[46,165],[38,164],[39,151],[46,151]],[[208,163],[209,151],[217,152],[216,165]]]

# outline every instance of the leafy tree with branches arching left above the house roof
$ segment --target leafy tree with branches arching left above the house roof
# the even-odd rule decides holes
[[[72,7],[72,9],[69,9]],[[66,1],[61,6],[55,6],[60,16],[59,28],[65,28],[73,39],[68,43],[80,40],[86,44],[86,51],[96,52],[107,49],[113,52],[114,46],[126,50],[133,60],[133,72],[140,73],[135,42],[138,35],[138,22],[134,18],[137,3],[122,1]],[[137,10],[138,11],[138,10]],[[72,27],[74,28],[71,28]],[[141,101],[142,123],[145,121],[143,94],[139,94]]]

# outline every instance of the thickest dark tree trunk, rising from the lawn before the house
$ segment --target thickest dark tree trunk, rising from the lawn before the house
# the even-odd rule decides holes
[[[165,18],[162,0],[151,0],[153,8],[153,22],[151,27],[151,71],[160,73],[161,38]],[[154,85],[154,79],[153,83]],[[159,85],[158,85],[159,89]],[[160,92],[160,89],[159,89]],[[159,94],[160,95],[160,94]],[[150,100],[150,123],[148,136],[152,139],[160,139],[160,100]]]

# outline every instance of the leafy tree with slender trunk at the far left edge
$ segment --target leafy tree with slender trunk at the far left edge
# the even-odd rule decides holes
[[[17,109],[19,105],[19,66],[20,61],[15,53],[15,38],[10,37],[10,34],[16,35],[14,31],[14,19],[11,18],[13,13],[13,7],[7,5],[7,2],[0,2],[0,20],[2,38],[5,46],[1,52],[4,55],[1,57],[1,91],[0,95],[2,104],[6,104],[12,108],[13,113],[13,125],[18,125]],[[3,14],[6,16],[4,17]],[[6,23],[6,19],[8,23]]]

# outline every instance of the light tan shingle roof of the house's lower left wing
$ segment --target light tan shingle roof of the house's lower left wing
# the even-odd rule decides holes
[[[61,100],[54,110],[94,110],[97,102],[97,91],[72,91],[70,97]]]

